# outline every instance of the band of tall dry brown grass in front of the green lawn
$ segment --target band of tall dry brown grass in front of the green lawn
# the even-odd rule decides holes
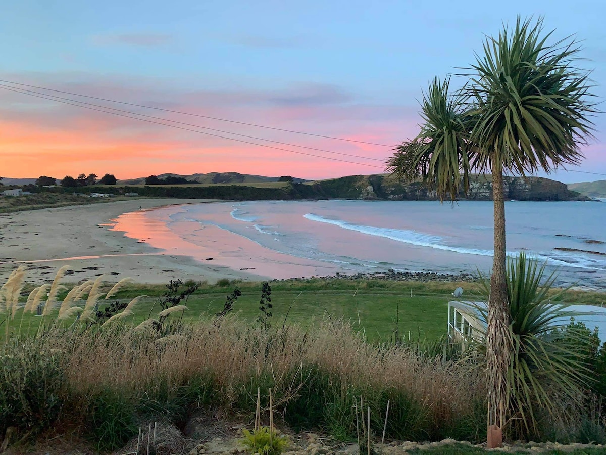
[[[332,410],[342,416],[344,438],[355,430],[353,399],[362,395],[377,422],[387,399],[391,409],[401,404],[410,415],[395,416],[393,428],[398,418],[410,420],[407,439],[471,439],[476,428],[452,432],[458,431],[458,420],[474,419],[474,405],[484,400],[482,375],[473,362],[442,362],[409,349],[370,345],[339,322],[266,331],[227,318],[220,328],[199,322],[160,339],[151,327],[104,325],[95,331],[49,332],[46,343],[64,353],[65,380],[83,413],[90,397],[110,390],[127,402],[145,400],[161,408],[162,400],[176,399],[195,382],[204,383],[224,413],[246,414],[254,411],[257,388],[267,395],[271,387],[287,421],[298,400],[323,400],[315,403],[319,415],[310,417],[330,430],[332,414],[324,408],[338,402]],[[305,398],[310,386],[315,394]],[[300,412],[312,404],[299,403]]]

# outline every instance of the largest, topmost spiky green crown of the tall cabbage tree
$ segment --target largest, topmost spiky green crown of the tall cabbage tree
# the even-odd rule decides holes
[[[582,158],[579,144],[593,126],[587,115],[596,112],[588,74],[574,67],[576,42],[547,45],[551,33],[541,33],[542,19],[531,26],[518,18],[513,32],[505,27],[487,38],[484,54],[476,55],[465,93],[476,118],[471,140],[482,150],[478,170],[496,160],[505,172],[525,175]]]

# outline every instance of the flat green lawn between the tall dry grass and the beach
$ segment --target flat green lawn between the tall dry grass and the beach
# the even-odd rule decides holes
[[[233,307],[233,314],[242,320],[255,323],[259,312],[261,283],[250,281],[208,285],[201,283],[195,294],[187,301],[188,311],[184,320],[195,322],[200,318],[213,318],[225,303],[225,298],[237,286],[242,295]],[[396,315],[400,337],[411,340],[436,340],[444,335],[447,329],[447,309],[451,292],[456,286],[465,289],[464,298],[478,300],[479,294],[475,283],[449,283],[389,280],[285,280],[270,283],[271,285],[271,326],[282,326],[288,314],[287,323],[308,326],[321,320],[345,320],[356,331],[361,331],[373,342],[388,341],[395,335]],[[107,292],[110,285],[105,285],[102,292]],[[26,286],[22,299],[25,300],[30,286]],[[139,302],[129,323],[138,324],[150,316],[157,317],[161,307],[159,296],[166,291],[164,285],[127,285],[116,298],[129,302],[138,295],[147,295]],[[59,301],[65,297],[64,291]],[[604,299],[604,294],[596,292],[573,292],[567,298],[571,303],[597,303]],[[110,301],[113,301],[112,299]],[[105,302],[102,300],[101,308]],[[79,302],[78,305],[83,305]],[[10,321],[12,330],[21,326],[22,332],[35,333],[40,325],[40,317],[25,315],[21,323],[22,311],[16,312]],[[171,316],[175,317],[175,315]],[[50,317],[46,324],[52,323]],[[73,321],[73,320],[72,320]],[[64,323],[71,323],[67,321]],[[0,326],[0,333],[5,327]]]

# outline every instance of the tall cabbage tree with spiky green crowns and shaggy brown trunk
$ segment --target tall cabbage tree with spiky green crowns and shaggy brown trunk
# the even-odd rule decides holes
[[[550,173],[578,164],[579,148],[591,136],[595,112],[588,73],[577,67],[574,39],[548,44],[542,19],[518,18],[488,37],[454,94],[448,81],[430,84],[421,103],[419,135],[396,147],[386,163],[396,177],[422,178],[444,200],[469,187],[471,172],[491,174],[494,258],[488,298],[487,380],[489,447],[501,443],[507,420],[514,349],[509,330],[505,271],[504,175]]]

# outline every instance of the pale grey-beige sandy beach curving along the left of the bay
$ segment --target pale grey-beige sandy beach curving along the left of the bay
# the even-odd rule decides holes
[[[64,281],[72,282],[102,274],[107,281],[132,277],[139,283],[167,283],[171,278],[210,282],[218,278],[265,278],[210,261],[161,254],[124,232],[108,228],[113,219],[128,212],[201,202],[210,201],[139,199],[0,214],[0,282],[22,263],[28,266],[26,280],[33,283],[52,280],[64,265],[72,268]]]

